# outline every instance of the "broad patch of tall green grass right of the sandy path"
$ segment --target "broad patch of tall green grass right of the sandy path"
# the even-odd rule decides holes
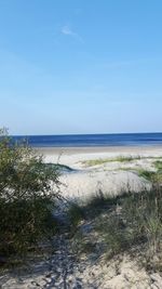
[[[78,251],[94,253],[98,242],[109,259],[123,251],[141,250],[147,266],[158,266],[152,258],[162,252],[162,189],[157,187],[112,198],[102,194],[93,197],[81,208],[92,227],[89,234],[76,234]],[[161,262],[161,257],[158,260]]]

